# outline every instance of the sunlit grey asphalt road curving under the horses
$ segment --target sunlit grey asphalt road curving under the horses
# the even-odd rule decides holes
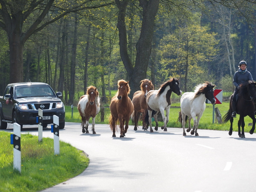
[[[7,131],[13,131],[11,126]],[[48,127],[43,137],[53,138]],[[22,132],[28,131],[38,135],[33,128]],[[43,192],[256,191],[256,133],[239,138],[237,132],[198,130],[198,137],[184,137],[182,128],[150,133],[130,126],[125,138],[119,132],[112,138],[108,125],[95,125],[95,131],[82,133],[79,123],[60,130],[60,140],[85,151],[90,164]]]

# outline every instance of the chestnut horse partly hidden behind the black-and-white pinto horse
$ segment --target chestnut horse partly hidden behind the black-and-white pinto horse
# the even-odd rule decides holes
[[[147,129],[148,124],[145,123],[145,111],[147,111],[146,95],[150,90],[154,90],[154,85],[150,80],[144,79],[140,81],[140,91],[133,94],[132,103],[134,106],[134,112],[132,114],[132,121],[135,123],[134,130],[137,131],[137,124],[142,114],[142,129]]]

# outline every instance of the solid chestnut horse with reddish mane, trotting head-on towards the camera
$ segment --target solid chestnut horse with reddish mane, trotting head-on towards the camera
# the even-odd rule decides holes
[[[128,130],[130,115],[133,112],[133,104],[131,99],[128,97],[130,93],[129,81],[119,80],[118,81],[118,92],[111,99],[109,106],[111,116],[109,118],[109,125],[113,131],[112,137],[116,137],[116,124],[120,123],[120,137],[124,137]],[[125,129],[124,129],[125,124]]]

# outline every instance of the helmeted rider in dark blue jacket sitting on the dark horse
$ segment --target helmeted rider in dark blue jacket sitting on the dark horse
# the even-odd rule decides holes
[[[235,85],[235,91],[234,91],[234,95],[233,95],[233,99],[232,99],[232,118],[236,117],[236,95],[239,92],[239,89],[241,88],[240,85],[242,85],[243,83],[247,82],[247,81],[253,81],[253,77],[251,75],[251,73],[249,71],[247,71],[246,69],[247,67],[247,63],[245,61],[240,61],[239,63],[239,69],[237,72],[235,72],[234,74],[234,78],[233,78],[233,84]]]

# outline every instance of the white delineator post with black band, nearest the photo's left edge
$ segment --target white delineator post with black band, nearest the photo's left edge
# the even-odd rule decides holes
[[[21,126],[18,123],[13,124],[13,134],[13,169],[21,173]]]

